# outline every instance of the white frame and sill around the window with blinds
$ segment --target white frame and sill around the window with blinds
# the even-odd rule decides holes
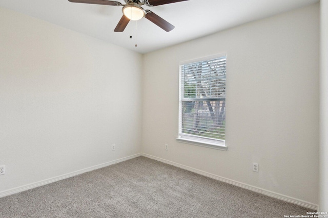
[[[178,137],[176,138],[177,142],[181,143],[188,143],[188,144],[193,144],[195,146],[201,146],[201,147],[207,147],[207,148],[212,148],[212,149],[218,149],[218,150],[223,150],[227,151],[228,146],[226,144],[226,140],[222,139],[211,139],[211,138],[201,138],[197,136],[193,136],[192,134],[187,134],[187,133],[182,133],[182,104],[183,102],[186,102],[185,98],[183,98],[183,90],[182,90],[182,72],[181,72],[181,67],[184,65],[188,64],[193,64],[193,63],[198,63],[202,61],[211,61],[213,59],[220,59],[220,58],[225,58],[226,63],[227,63],[227,55],[226,54],[217,54],[217,55],[212,55],[212,56],[207,56],[199,59],[194,59],[194,60],[189,60],[189,61],[183,61],[179,63],[179,116],[178,116]],[[227,71],[227,66],[226,66],[226,71]],[[225,82],[225,87],[227,87],[227,83]],[[192,99],[192,98],[190,98]],[[189,100],[190,100],[189,99]],[[204,100],[208,100],[210,98],[204,98]],[[226,101],[226,96],[224,95],[224,98],[211,98],[214,99],[214,101],[219,101],[224,99]],[[225,106],[226,107],[226,106]],[[226,112],[226,111],[224,111]],[[224,119],[226,120],[226,119]],[[224,132],[224,135],[225,132]]]

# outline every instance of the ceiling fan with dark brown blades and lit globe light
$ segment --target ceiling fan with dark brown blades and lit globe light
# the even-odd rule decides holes
[[[169,32],[174,29],[165,19],[159,17],[157,14],[150,10],[145,10],[141,6],[146,5],[149,7],[171,4],[176,2],[183,2],[188,0],[124,0],[126,5],[122,5],[120,2],[108,1],[108,0],[68,0],[73,3],[87,3],[96,5],[111,5],[111,6],[123,6],[122,12],[123,16],[119,20],[114,32],[123,32],[128,26],[130,20],[139,20],[142,17],[146,17],[148,20],[152,21],[160,27],[161,29]]]

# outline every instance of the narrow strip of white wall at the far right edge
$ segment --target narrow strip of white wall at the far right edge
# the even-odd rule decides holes
[[[320,1],[320,211],[328,211],[328,1]]]

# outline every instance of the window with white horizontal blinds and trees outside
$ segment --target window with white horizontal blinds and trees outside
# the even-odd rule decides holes
[[[226,57],[180,65],[179,142],[227,150]]]

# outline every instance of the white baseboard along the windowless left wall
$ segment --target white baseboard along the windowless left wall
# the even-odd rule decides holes
[[[14,193],[18,193],[18,192],[21,192],[21,191],[26,191],[26,190],[29,190],[29,189],[32,189],[32,188],[36,188],[36,187],[39,187],[39,186],[47,185],[49,183],[56,182],[56,181],[59,181],[59,180],[67,179],[67,178],[70,178],[70,177],[73,177],[73,176],[77,176],[79,174],[83,174],[83,173],[93,171],[93,170],[98,169],[98,168],[102,168],[102,167],[109,166],[109,165],[112,165],[112,164],[115,164],[115,163],[119,163],[119,162],[122,162],[122,161],[133,159],[133,158],[136,158],[136,157],[139,157],[139,156],[141,156],[141,153],[131,155],[131,156],[128,156],[128,157],[124,157],[124,158],[119,158],[119,159],[112,160],[112,161],[109,161],[109,162],[106,162],[106,163],[101,163],[101,164],[98,164],[98,165],[95,165],[95,166],[80,169],[80,170],[72,172],[72,173],[52,177],[50,179],[45,179],[45,180],[42,180],[42,181],[33,182],[33,183],[30,183],[30,184],[27,184],[27,185],[23,185],[23,186],[19,186],[19,187],[16,187],[16,188],[9,189],[9,190],[1,191],[0,192],[0,198],[5,197],[5,196],[9,196],[9,195],[13,195]]]

